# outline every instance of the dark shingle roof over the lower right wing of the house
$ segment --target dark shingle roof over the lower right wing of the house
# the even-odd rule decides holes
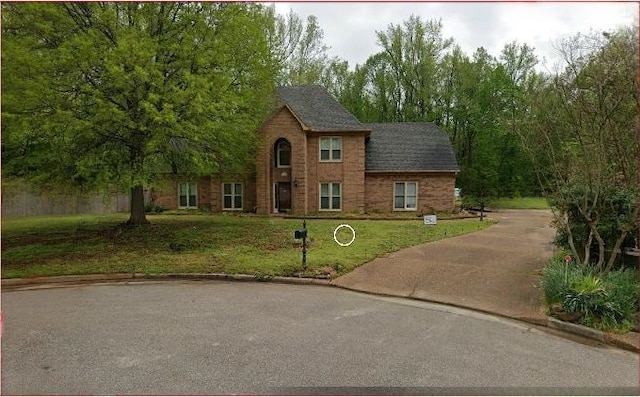
[[[432,123],[365,124],[367,171],[458,171],[449,137]]]

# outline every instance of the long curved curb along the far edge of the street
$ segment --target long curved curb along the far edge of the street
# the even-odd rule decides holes
[[[2,280],[2,289],[13,291],[18,289],[31,289],[31,288],[47,288],[47,287],[64,287],[74,285],[87,285],[87,284],[99,284],[99,283],[130,283],[130,282],[145,282],[145,281],[199,281],[199,280],[220,280],[220,281],[239,281],[239,282],[273,282],[280,284],[295,284],[295,285],[319,285],[328,286],[334,288],[340,288],[348,291],[356,291],[362,293],[369,293],[373,295],[381,295],[371,293],[367,291],[355,290],[340,285],[333,284],[329,279],[320,278],[303,278],[303,277],[281,277],[281,276],[264,276],[260,274],[225,274],[225,273],[168,273],[168,274],[142,274],[142,273],[118,273],[118,274],[91,274],[91,275],[78,275],[78,276],[55,276],[55,277],[33,277],[33,278],[15,278]],[[428,299],[417,299],[412,297],[397,296],[382,294],[384,296],[393,296],[401,298],[416,299],[424,302],[431,302],[437,304],[443,304],[453,307],[459,307],[468,310],[474,310],[485,314],[496,315],[499,317],[521,321],[524,323],[544,326],[560,331],[568,332],[571,334],[583,336],[589,339],[597,340],[601,343],[612,345],[621,349],[625,349],[632,352],[640,352],[640,347],[625,341],[622,337],[616,334],[606,333],[600,330],[585,327],[579,324],[573,324],[565,321],[560,321],[553,317],[547,317],[544,319],[528,318],[528,317],[510,317],[500,313],[488,312],[466,306],[460,306],[451,303],[432,301]],[[640,342],[640,341],[638,341]]]

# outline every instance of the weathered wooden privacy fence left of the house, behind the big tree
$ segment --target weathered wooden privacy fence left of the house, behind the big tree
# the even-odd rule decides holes
[[[130,199],[125,194],[55,194],[30,191],[26,186],[2,186],[2,217],[36,215],[110,214],[128,212]]]

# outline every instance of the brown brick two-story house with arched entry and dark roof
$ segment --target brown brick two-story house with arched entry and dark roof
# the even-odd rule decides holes
[[[459,168],[434,124],[363,124],[319,86],[281,87],[277,95],[259,130],[255,178],[175,180],[156,203],[300,215],[453,209]]]

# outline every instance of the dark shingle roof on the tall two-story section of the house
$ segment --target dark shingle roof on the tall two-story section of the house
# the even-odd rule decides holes
[[[280,104],[286,104],[305,127],[313,131],[366,131],[329,92],[318,85],[279,87]]]

